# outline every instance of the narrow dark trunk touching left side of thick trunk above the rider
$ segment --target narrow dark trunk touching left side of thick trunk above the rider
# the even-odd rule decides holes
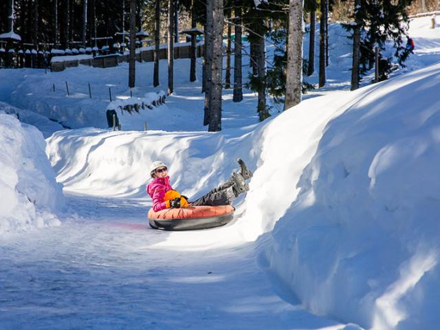
[[[214,39],[213,31],[213,1],[206,2],[206,25],[205,25],[205,107],[203,116],[203,125],[210,123],[210,109],[211,109],[211,83],[212,83],[212,43]]]

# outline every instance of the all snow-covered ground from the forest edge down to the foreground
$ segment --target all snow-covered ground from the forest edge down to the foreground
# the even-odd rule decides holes
[[[416,49],[406,69],[354,92],[347,90],[349,42],[332,25],[338,47],[325,89],[263,123],[254,94],[245,91],[234,104],[225,91],[220,133],[201,125],[203,94],[200,83],[187,82],[186,60],[176,61],[166,105],[133,114],[139,123],[121,116],[123,131],[114,132],[104,129],[101,109],[108,85],[115,96],[129,95],[125,65],[0,72],[10,76],[0,82],[0,101],[83,127],[52,126],[50,135],[46,122],[36,124],[45,127],[67,203],[62,225],[17,226],[0,236],[1,329],[435,329],[440,36],[429,25],[429,18],[412,21]],[[138,65],[133,96],[161,89],[151,87],[151,68]],[[69,97],[61,90],[67,80]],[[88,81],[102,85],[96,99]],[[41,135],[3,116],[4,130],[33,132],[39,155]],[[85,127],[92,122],[97,128]],[[4,130],[1,147],[13,153]],[[20,164],[30,148],[14,154],[10,173],[36,183],[40,175]],[[227,179],[239,156],[254,177],[232,223],[194,232],[148,228],[151,162],[168,163],[173,186],[192,198]],[[50,177],[46,160],[37,159]],[[5,194],[15,198],[18,185],[9,187]]]

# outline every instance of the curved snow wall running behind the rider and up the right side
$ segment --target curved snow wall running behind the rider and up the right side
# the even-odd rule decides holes
[[[314,313],[366,329],[430,329],[440,307],[439,76],[433,65],[221,133],[60,132],[47,151],[67,190],[131,197],[144,195],[156,159],[195,197],[241,156],[255,173],[239,219],[196,233],[200,245],[260,236],[261,267]],[[191,233],[171,237],[195,244]]]

